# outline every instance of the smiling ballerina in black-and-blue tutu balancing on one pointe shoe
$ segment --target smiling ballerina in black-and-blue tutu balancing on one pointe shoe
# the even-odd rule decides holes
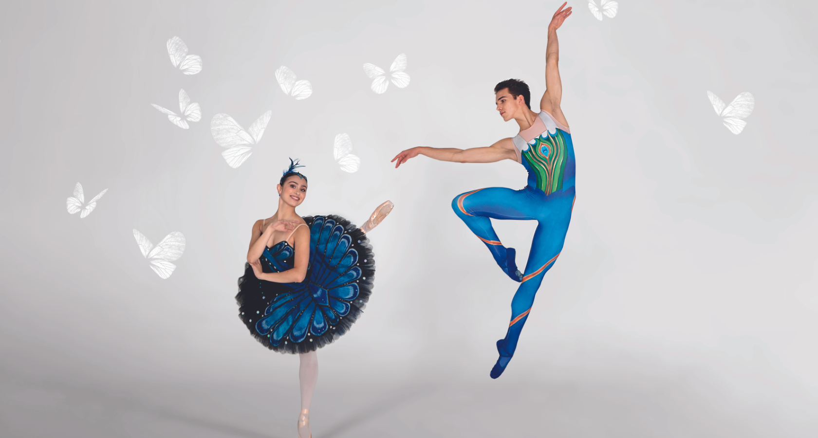
[[[316,350],[348,331],[372,290],[375,260],[366,233],[392,211],[380,204],[357,228],[343,217],[299,217],[307,177],[290,159],[276,186],[278,210],[253,225],[245,275],[239,279],[239,317],[267,348],[298,353],[299,438],[312,436],[309,406],[318,379]]]

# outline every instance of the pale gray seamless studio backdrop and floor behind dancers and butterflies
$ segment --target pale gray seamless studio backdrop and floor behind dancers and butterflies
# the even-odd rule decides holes
[[[597,2],[597,4],[599,4]],[[302,215],[371,233],[375,293],[319,351],[315,436],[816,436],[818,151],[811,2],[621,0],[560,29],[576,206],[519,349],[488,372],[515,291],[456,194],[521,166],[389,160],[513,136],[492,87],[545,91],[546,2],[4,2],[0,435],[293,436],[298,359],[234,295],[250,227],[307,165]],[[201,57],[174,67],[178,36]],[[407,87],[362,68],[405,53]],[[312,95],[276,82],[281,65]],[[184,89],[202,118],[182,129]],[[738,135],[708,91],[755,105]],[[272,116],[238,168],[210,121]],[[357,172],[334,139],[347,133]],[[66,211],[74,185],[81,218]],[[524,264],[533,222],[496,221]],[[178,231],[161,279],[133,237]]]

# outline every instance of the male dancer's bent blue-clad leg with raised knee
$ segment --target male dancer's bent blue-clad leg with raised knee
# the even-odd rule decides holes
[[[533,219],[533,216],[521,211],[528,205],[523,191],[489,187],[459,194],[452,200],[452,209],[457,217],[460,217],[471,232],[486,244],[503,272],[517,282],[522,279],[522,274],[517,270],[515,249],[503,246],[494,232],[490,218]]]

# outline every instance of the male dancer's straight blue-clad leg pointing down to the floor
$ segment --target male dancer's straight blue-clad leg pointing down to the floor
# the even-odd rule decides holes
[[[497,341],[497,352],[500,354],[500,359],[492,369],[492,378],[500,377],[511,360],[511,356],[514,355],[519,334],[523,331],[525,321],[528,320],[528,313],[531,311],[542,278],[560,256],[571,219],[570,208],[567,211],[564,208],[563,210],[559,214],[552,214],[546,220],[540,221],[534,232],[523,281],[517,288],[514,299],[511,300],[511,320],[506,337]]]

